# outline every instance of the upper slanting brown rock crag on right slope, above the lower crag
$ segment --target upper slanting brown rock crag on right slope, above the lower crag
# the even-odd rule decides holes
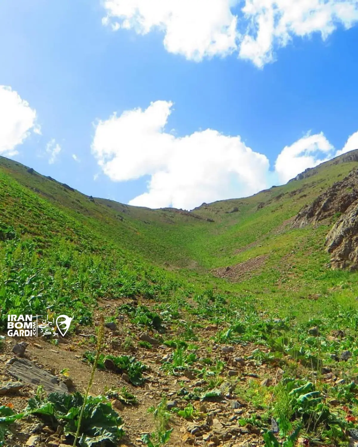
[[[295,217],[292,226],[303,228],[312,223],[345,213],[358,200],[358,170],[354,170],[341,181],[334,183],[320,194],[310,205],[306,205]]]

